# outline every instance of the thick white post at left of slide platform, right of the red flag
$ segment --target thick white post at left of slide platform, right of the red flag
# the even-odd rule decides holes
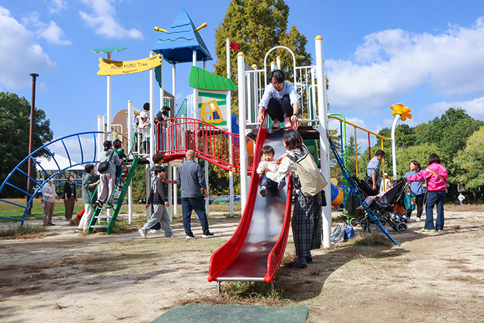
[[[242,212],[245,208],[245,203],[247,202],[247,194],[248,194],[248,185],[247,185],[247,167],[248,167],[248,160],[247,160],[247,147],[245,143],[245,127],[246,127],[246,120],[245,120],[245,62],[244,62],[243,53],[240,52],[237,54],[237,73],[239,77],[239,129],[240,129],[240,136],[239,136],[239,154],[241,156],[241,207]]]

